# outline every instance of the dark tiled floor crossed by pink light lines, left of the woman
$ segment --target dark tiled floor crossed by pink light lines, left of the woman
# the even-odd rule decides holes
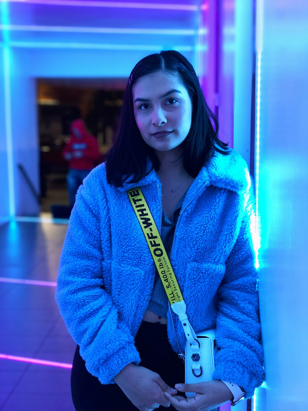
[[[0,358],[1,411],[74,410],[71,370],[61,365],[72,363],[76,345],[55,303],[66,229],[66,224],[34,222],[0,226],[0,357],[30,359]],[[60,367],[28,362],[33,359]]]

